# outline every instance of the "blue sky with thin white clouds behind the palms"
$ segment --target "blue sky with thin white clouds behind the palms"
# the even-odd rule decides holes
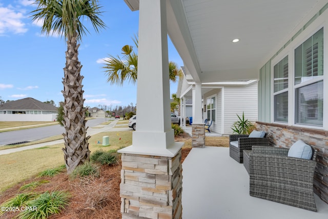
[[[65,67],[64,38],[45,36],[41,28],[29,17],[35,10],[34,1],[0,0],[0,98],[7,101],[32,97],[56,105],[64,101],[61,94]],[[102,68],[103,59],[120,55],[124,45],[134,45],[132,37],[138,32],[139,12],[132,12],[123,0],[100,0],[103,6],[101,19],[107,28],[96,33],[85,19],[90,31],[80,42],[79,61],[83,65],[81,75],[84,85],[85,106],[127,106],[136,104],[136,85],[124,86],[107,83]],[[120,55],[121,56],[121,55]],[[183,63],[169,39],[169,60],[178,66]],[[171,83],[175,93],[177,83]]]

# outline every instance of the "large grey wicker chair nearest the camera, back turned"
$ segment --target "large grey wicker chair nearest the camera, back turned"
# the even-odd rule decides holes
[[[313,177],[317,151],[311,160],[287,156],[289,149],[253,146],[250,155],[250,195],[317,211]]]

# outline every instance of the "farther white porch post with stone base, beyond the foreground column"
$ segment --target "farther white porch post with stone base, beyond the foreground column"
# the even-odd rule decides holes
[[[205,127],[202,120],[201,83],[195,83],[193,90],[192,146],[205,147]]]

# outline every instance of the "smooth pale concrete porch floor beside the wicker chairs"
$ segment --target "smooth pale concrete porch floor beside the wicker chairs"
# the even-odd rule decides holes
[[[249,175],[229,148],[193,148],[182,164],[182,218],[328,218],[328,204],[315,195],[318,212],[249,195]]]

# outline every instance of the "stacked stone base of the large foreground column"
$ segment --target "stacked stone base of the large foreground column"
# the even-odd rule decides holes
[[[174,157],[123,153],[122,218],[182,218],[181,150]]]

